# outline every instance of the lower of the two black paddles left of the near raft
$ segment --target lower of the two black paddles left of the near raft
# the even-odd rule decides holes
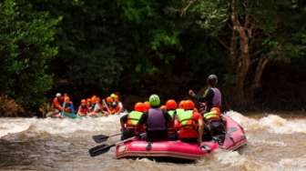
[[[139,135],[139,137],[142,137],[142,136],[145,136],[146,133],[142,133],[141,135]],[[112,147],[112,146],[117,146],[119,144],[122,144],[122,143],[125,143],[125,142],[128,142],[128,141],[131,141],[133,139],[135,139],[137,136],[133,136],[133,137],[130,137],[128,139],[125,139],[123,141],[120,141],[118,143],[115,143],[115,144],[112,144],[112,145],[100,145],[100,146],[95,146],[95,147],[92,147],[88,150],[89,152],[89,155],[90,156],[98,156],[98,155],[102,155],[104,153],[107,153],[107,151],[109,151],[109,149]]]

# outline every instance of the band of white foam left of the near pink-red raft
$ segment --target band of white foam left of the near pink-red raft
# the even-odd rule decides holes
[[[30,130],[37,133],[71,134],[77,131],[119,130],[118,116],[84,118],[0,118],[0,137]]]

